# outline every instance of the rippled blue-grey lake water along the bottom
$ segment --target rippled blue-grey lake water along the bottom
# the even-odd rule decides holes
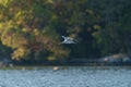
[[[0,70],[0,87],[131,87],[130,67]]]

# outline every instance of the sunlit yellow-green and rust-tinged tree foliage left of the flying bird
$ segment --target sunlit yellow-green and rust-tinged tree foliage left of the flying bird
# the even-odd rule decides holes
[[[1,41],[13,49],[12,59],[37,60],[47,51],[43,59],[68,57],[69,50],[58,45],[59,35],[50,25],[53,14],[47,1],[2,0],[0,8]]]

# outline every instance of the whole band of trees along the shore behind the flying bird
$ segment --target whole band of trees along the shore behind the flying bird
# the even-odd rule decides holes
[[[0,59],[70,61],[131,50],[130,0],[0,0]],[[79,40],[61,45],[61,36]]]

